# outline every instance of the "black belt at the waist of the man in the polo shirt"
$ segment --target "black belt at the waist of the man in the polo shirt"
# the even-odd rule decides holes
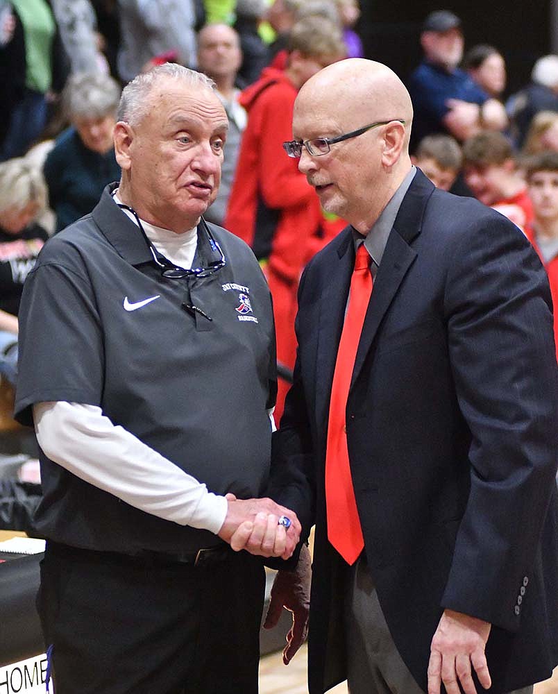
[[[153,550],[139,550],[130,554],[120,552],[105,552],[103,550],[90,550],[71,545],[62,545],[58,542],[47,540],[47,552],[59,557],[70,559],[94,559],[105,560],[128,566],[176,566],[189,564],[202,567],[226,561],[234,552],[229,545],[221,544],[214,547],[204,547],[198,550],[185,550],[176,554],[170,552],[155,552]]]

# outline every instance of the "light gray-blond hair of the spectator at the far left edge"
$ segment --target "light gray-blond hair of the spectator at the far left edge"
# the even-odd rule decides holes
[[[1,162],[0,213],[24,210],[29,203],[36,203],[40,210],[47,207],[47,185],[40,169],[23,157]]]

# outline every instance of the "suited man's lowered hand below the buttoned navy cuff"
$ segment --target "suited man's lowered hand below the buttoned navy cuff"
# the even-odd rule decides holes
[[[471,666],[485,689],[491,686],[484,647],[491,624],[461,612],[446,609],[430,645],[428,694],[440,694],[440,683],[448,694],[477,694]]]

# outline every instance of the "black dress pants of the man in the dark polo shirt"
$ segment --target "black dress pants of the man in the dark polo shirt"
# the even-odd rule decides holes
[[[56,694],[257,694],[264,569],[47,545],[37,596]]]

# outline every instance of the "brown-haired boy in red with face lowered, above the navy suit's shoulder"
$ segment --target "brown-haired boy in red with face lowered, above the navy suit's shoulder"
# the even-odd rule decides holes
[[[509,140],[493,131],[482,131],[463,145],[465,183],[477,200],[498,210],[519,228],[531,223],[532,204],[525,180],[517,169]]]

